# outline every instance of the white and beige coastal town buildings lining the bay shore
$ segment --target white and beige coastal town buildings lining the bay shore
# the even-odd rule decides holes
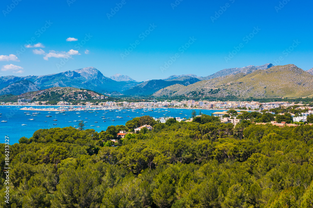
[[[2,105],[22,105],[20,110],[33,110],[33,111],[94,111],[94,110],[109,110],[109,111],[121,111],[122,109],[142,109],[143,112],[147,111],[160,111],[160,108],[164,109],[193,109],[193,110],[214,110],[212,113],[213,116],[219,117],[222,123],[232,123],[234,126],[240,123],[243,118],[240,116],[244,114],[244,112],[259,112],[261,114],[264,113],[272,113],[275,114],[275,109],[294,109],[293,111],[287,111],[284,113],[277,113],[279,115],[289,115],[291,116],[290,122],[288,123],[278,123],[274,120],[270,120],[266,123],[272,123],[273,125],[291,125],[298,126],[301,123],[307,121],[307,116],[313,114],[313,111],[310,105],[295,103],[295,102],[239,102],[239,101],[228,101],[228,102],[219,102],[219,101],[195,101],[195,100],[184,100],[184,101],[163,101],[163,102],[115,102],[115,101],[107,101],[100,102],[97,105],[94,103],[87,102],[86,105],[70,105],[70,103],[58,102],[56,106],[51,105],[39,105],[38,102],[30,102],[27,99],[19,99],[17,103],[2,103]],[[235,110],[235,115],[232,115],[231,110]],[[163,111],[163,110],[162,110]],[[168,110],[166,110],[168,111]],[[165,112],[165,111],[164,111]],[[168,111],[170,112],[170,111]],[[287,113],[287,114],[286,114]],[[182,113],[180,113],[182,114]],[[165,114],[164,114],[165,115]],[[181,117],[175,117],[175,119],[180,121],[192,121],[194,117],[201,116],[201,113],[198,115],[182,115]],[[155,117],[153,119],[159,120],[160,123],[165,123],[168,119],[174,117],[171,116],[161,116]],[[264,124],[262,120],[260,120],[260,124]]]

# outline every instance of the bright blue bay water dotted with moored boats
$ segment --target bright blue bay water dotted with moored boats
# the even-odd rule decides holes
[[[19,107],[19,108],[18,108]],[[77,126],[79,121],[83,120],[85,123],[85,128],[93,128],[97,132],[101,132],[102,130],[106,130],[108,126],[111,125],[125,125],[125,123],[135,117],[140,117],[144,115],[149,115],[151,117],[164,117],[164,116],[172,116],[172,117],[181,117],[181,118],[190,118],[191,112],[193,109],[173,109],[173,108],[156,108],[153,111],[144,112],[143,109],[135,109],[135,112],[132,112],[132,109],[121,109],[121,111],[115,112],[109,110],[96,110],[87,112],[84,111],[66,111],[63,113],[58,113],[58,111],[50,111],[50,115],[52,117],[46,117],[49,115],[48,111],[27,111],[29,114],[32,113],[40,113],[37,116],[26,115],[24,114],[24,110],[20,110],[25,106],[6,106],[0,105],[0,120],[7,121],[6,123],[0,123],[0,132],[1,139],[0,143],[4,143],[5,136],[10,138],[10,144],[18,143],[18,140],[25,136],[27,138],[32,137],[33,133],[40,128],[63,128],[69,126]],[[27,106],[30,107],[30,106]],[[38,108],[37,106],[33,106],[34,108]],[[53,107],[53,106],[49,106]],[[43,107],[44,108],[44,107]],[[55,107],[57,108],[57,107]],[[131,111],[128,111],[131,110]],[[167,110],[167,111],[166,111]],[[146,111],[146,110],[145,110]],[[164,112],[162,112],[164,111]],[[197,114],[199,114],[200,110],[196,109]],[[76,114],[80,112],[80,114]],[[216,110],[201,110],[203,114],[211,115]],[[165,115],[164,115],[165,114]],[[80,116],[80,117],[79,117]],[[117,118],[118,116],[122,118]],[[129,117],[127,117],[129,116]],[[28,120],[28,119],[35,120]],[[105,119],[104,119],[105,118]],[[53,119],[57,119],[57,121],[53,121]],[[76,122],[75,122],[76,120]],[[115,120],[115,121],[112,121]],[[46,121],[46,122],[45,122]],[[95,123],[97,122],[97,123]],[[26,126],[22,126],[22,124],[26,124]],[[53,125],[56,124],[56,125]],[[94,125],[94,126],[91,126]],[[99,126],[99,127],[97,127]]]

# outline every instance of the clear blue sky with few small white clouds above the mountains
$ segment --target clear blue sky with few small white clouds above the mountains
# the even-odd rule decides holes
[[[265,63],[309,70],[312,6],[303,0],[2,0],[0,75],[93,66],[107,77],[144,81]]]

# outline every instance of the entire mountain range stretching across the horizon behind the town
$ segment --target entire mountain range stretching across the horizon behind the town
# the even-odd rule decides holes
[[[51,87],[74,87],[100,93],[116,91],[125,95],[153,94],[155,97],[303,97],[313,94],[310,81],[312,77],[313,68],[304,71],[295,65],[264,64],[223,69],[206,77],[194,74],[172,75],[162,80],[136,82],[121,74],[109,78],[94,67],[86,67],[41,76],[3,76],[0,77],[0,95],[19,95]]]

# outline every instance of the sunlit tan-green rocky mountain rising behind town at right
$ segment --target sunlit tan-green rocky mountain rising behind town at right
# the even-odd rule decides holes
[[[238,73],[203,80],[188,86],[172,85],[158,90],[155,97],[312,97],[313,75],[293,64],[259,69],[252,73]]]

